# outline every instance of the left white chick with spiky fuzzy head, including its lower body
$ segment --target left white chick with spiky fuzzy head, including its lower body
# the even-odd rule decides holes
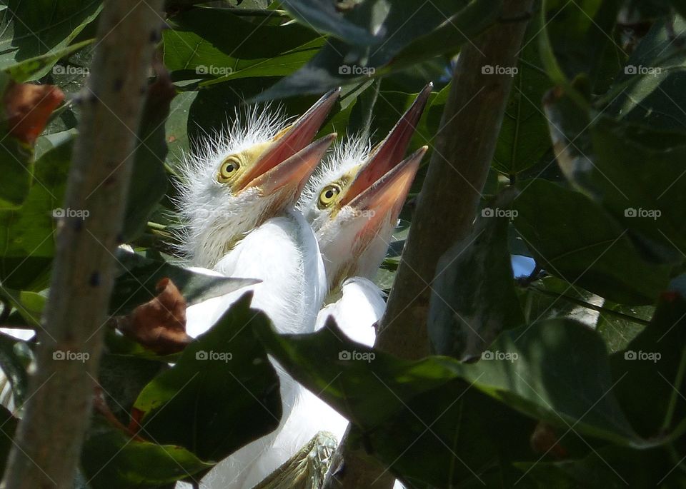
[[[324,266],[312,228],[294,209],[305,181],[335,138],[312,141],[337,100],[339,90],[319,99],[295,123],[252,111],[244,126],[234,124],[212,146],[188,158],[179,200],[186,223],[182,251],[196,270],[257,278],[255,286],[187,309],[187,332],[198,336],[252,289],[252,307],[262,309],[281,333],[314,331],[325,292]],[[308,146],[309,143],[309,146]],[[276,364],[285,422],[299,384]],[[276,431],[219,463],[203,487],[250,488],[252,465]]]

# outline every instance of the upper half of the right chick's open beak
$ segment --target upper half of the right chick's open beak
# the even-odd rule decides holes
[[[372,150],[367,161],[362,163],[362,168],[360,168],[352,183],[346,188],[341,198],[339,198],[339,207],[342,208],[348,205],[354,198],[357,198],[364,191],[374,186],[379,181],[379,178],[385,178],[387,173],[395,166],[402,165],[402,163],[398,162],[402,160],[405,151],[407,151],[409,141],[412,139],[412,134],[414,134],[414,128],[417,127],[419,119],[422,117],[422,112],[427,105],[432,88],[433,84],[428,84],[419,92],[417,99],[414,99],[412,105],[402,115],[394,128],[391,129],[388,136]],[[422,151],[423,154],[424,151]],[[421,159],[421,155],[419,159]],[[414,172],[416,173],[416,169]],[[412,178],[414,178],[414,173],[412,173]],[[402,197],[404,200],[406,195],[407,192],[399,197]]]

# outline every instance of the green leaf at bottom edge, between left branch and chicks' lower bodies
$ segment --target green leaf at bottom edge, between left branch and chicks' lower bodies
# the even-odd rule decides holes
[[[157,488],[212,465],[176,445],[131,439],[99,417],[81,450],[81,466],[94,489]]]

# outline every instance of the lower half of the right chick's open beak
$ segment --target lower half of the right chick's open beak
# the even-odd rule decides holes
[[[386,216],[397,219],[427,149],[427,146],[422,146],[414,151],[348,203],[358,213],[367,216],[369,223],[366,229],[372,231],[377,228],[374,223],[384,220]]]

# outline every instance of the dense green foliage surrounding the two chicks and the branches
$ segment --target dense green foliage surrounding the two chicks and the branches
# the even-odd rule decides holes
[[[500,18],[500,4],[169,1],[156,78],[164,66],[174,96],[146,105],[123,236],[136,255],[117,256],[111,314],[154,297],[164,276],[189,303],[241,285],[174,266],[169,231],[178,225],[179,158],[242,104],[283,99],[287,114],[299,114],[342,86],[322,133],[379,140],[433,81],[410,148],[428,144],[429,154],[377,277],[390,288],[425,165],[440,157],[434,138],[454,56],[484,29],[522,21]],[[39,82],[67,95],[35,146],[18,141],[6,120],[1,129],[3,325],[39,327],[101,7],[0,4],[0,88]],[[339,351],[364,348],[330,331],[281,338],[264,316],[242,328],[252,317],[246,302],[171,357],[110,331],[99,383],[114,416],[94,415],[79,483],[164,487],[274,428],[262,409],[279,405],[269,352],[305,385],[327,386],[324,399],[356,426],[353,443],[410,487],[683,486],[685,11],[677,0],[536,4],[482,212],[434,284],[429,333],[444,356],[410,363],[377,352],[369,365],[345,363]],[[515,280],[512,255],[531,258],[535,270]],[[211,367],[197,361],[197,351],[221,346],[240,354]],[[0,336],[17,405],[32,348]],[[482,359],[465,361],[474,357]],[[251,423],[237,423],[247,413]],[[1,415],[8,450],[18,414]],[[131,418],[138,438],[124,429]]]

